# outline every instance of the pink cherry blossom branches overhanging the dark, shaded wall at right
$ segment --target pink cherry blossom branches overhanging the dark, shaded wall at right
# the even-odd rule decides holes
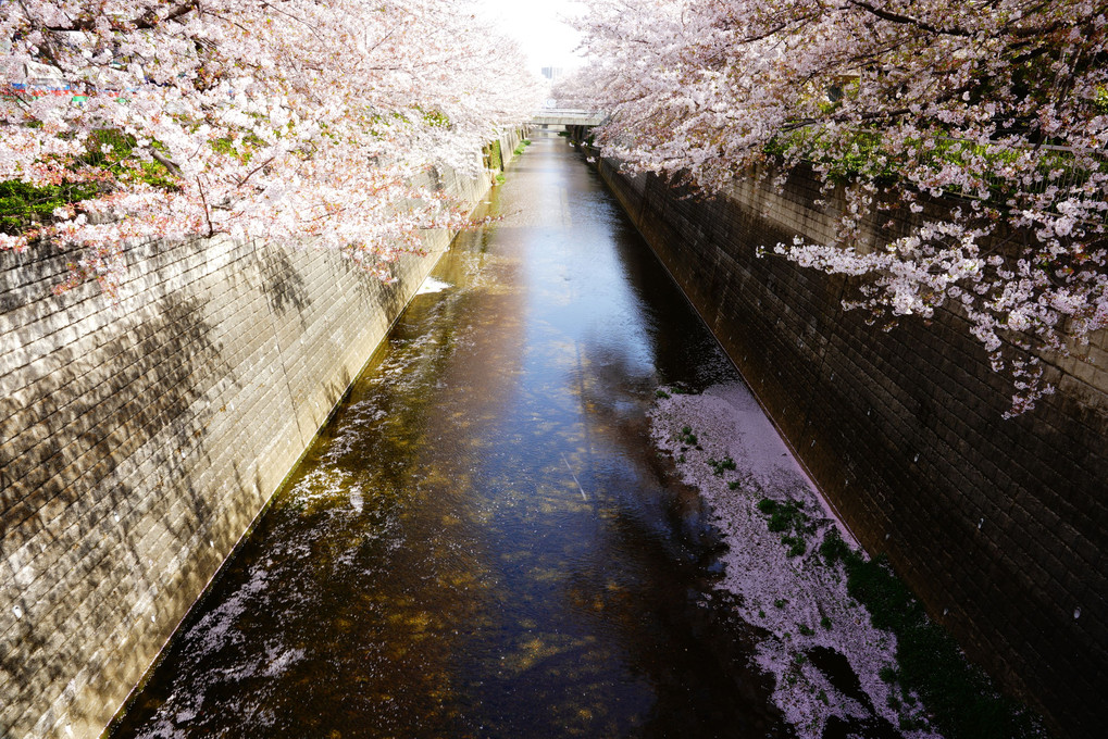
[[[1044,358],[1108,325],[1108,3],[589,6],[593,64],[558,94],[611,112],[607,154],[711,193],[813,167],[845,194],[837,242],[774,250],[859,276],[847,306],[886,326],[957,306],[1014,413],[1053,390]]]

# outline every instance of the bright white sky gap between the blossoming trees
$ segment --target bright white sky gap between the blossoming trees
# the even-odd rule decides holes
[[[504,35],[520,42],[537,74],[543,66],[561,66],[567,72],[581,66],[573,53],[579,34],[562,18],[583,12],[575,0],[474,0],[479,12]]]

